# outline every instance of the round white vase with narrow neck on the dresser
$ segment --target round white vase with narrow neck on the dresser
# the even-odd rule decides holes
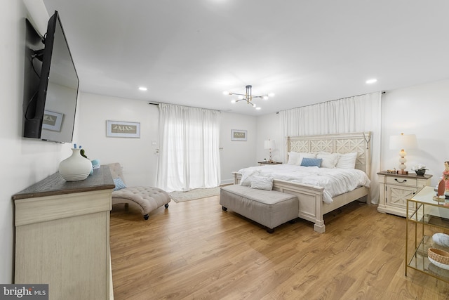
[[[72,149],[72,156],[59,164],[59,174],[65,181],[82,181],[91,174],[92,163],[80,153],[81,149]]]

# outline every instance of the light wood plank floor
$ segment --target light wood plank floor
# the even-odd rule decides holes
[[[449,299],[449,284],[404,275],[405,219],[354,202],[267,233],[219,197],[170,202],[145,221],[111,212],[114,297],[121,299]]]

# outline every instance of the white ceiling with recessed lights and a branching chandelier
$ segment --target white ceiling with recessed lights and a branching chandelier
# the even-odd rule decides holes
[[[449,78],[447,0],[43,2],[88,93],[264,115]]]

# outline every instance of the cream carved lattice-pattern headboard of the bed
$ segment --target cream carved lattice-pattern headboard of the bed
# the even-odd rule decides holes
[[[320,136],[289,136],[287,152],[331,153],[357,152],[356,169],[370,177],[371,172],[371,132],[325,134]]]

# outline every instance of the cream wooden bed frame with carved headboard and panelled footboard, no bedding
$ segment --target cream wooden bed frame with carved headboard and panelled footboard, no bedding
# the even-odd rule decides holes
[[[288,137],[287,152],[328,152],[340,154],[356,152],[355,169],[363,171],[369,178],[371,171],[370,141],[370,132]],[[234,184],[240,184],[242,173],[243,171],[241,170],[233,172]],[[326,231],[326,226],[323,221],[324,214],[355,200],[364,200],[367,204],[370,204],[369,188],[365,185],[358,186],[347,193],[333,195],[330,203],[325,202],[324,188],[319,185],[274,178],[273,190],[296,195],[300,202],[298,216],[313,222],[314,230],[319,233]]]

